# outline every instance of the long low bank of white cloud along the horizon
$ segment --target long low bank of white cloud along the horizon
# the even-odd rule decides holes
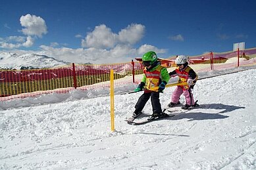
[[[74,63],[106,64],[117,62],[130,62],[136,57],[141,57],[147,51],[155,51],[157,54],[165,53],[164,49],[157,49],[152,45],[142,45],[134,49],[130,45],[116,45],[113,49],[70,49],[66,47],[54,48],[45,45],[40,46],[41,51],[34,51],[36,54],[51,56],[57,60]]]

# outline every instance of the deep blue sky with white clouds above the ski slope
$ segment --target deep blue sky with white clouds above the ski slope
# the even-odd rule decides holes
[[[128,62],[256,47],[256,2],[13,1],[0,2],[0,52],[46,54],[68,62]]]

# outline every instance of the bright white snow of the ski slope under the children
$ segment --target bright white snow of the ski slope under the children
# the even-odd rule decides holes
[[[0,102],[0,169],[256,169],[256,72],[247,69],[200,74],[226,75],[197,81],[199,108],[139,126],[124,119],[142,92],[118,89],[113,132],[109,90]],[[150,100],[143,112],[152,114]]]

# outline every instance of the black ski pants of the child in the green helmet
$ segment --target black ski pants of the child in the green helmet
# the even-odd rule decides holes
[[[138,102],[135,105],[135,112],[141,112],[149,98],[151,98],[153,114],[162,113],[162,108],[159,100],[159,92],[155,91],[152,91],[150,93],[143,93],[143,95],[140,96]]]

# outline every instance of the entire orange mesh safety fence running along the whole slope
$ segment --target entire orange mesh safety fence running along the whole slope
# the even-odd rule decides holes
[[[256,48],[241,51],[239,56],[244,59],[240,62],[240,66],[256,64]],[[172,71],[175,66],[174,59],[160,62]],[[237,67],[236,60],[238,60],[237,52],[207,53],[190,56],[190,66],[198,73],[209,72]],[[60,68],[36,70],[0,70],[0,101],[45,93],[68,93],[74,89],[106,88],[110,85],[110,70],[112,69],[115,87],[134,85],[141,81],[143,73],[141,62],[73,64]]]

